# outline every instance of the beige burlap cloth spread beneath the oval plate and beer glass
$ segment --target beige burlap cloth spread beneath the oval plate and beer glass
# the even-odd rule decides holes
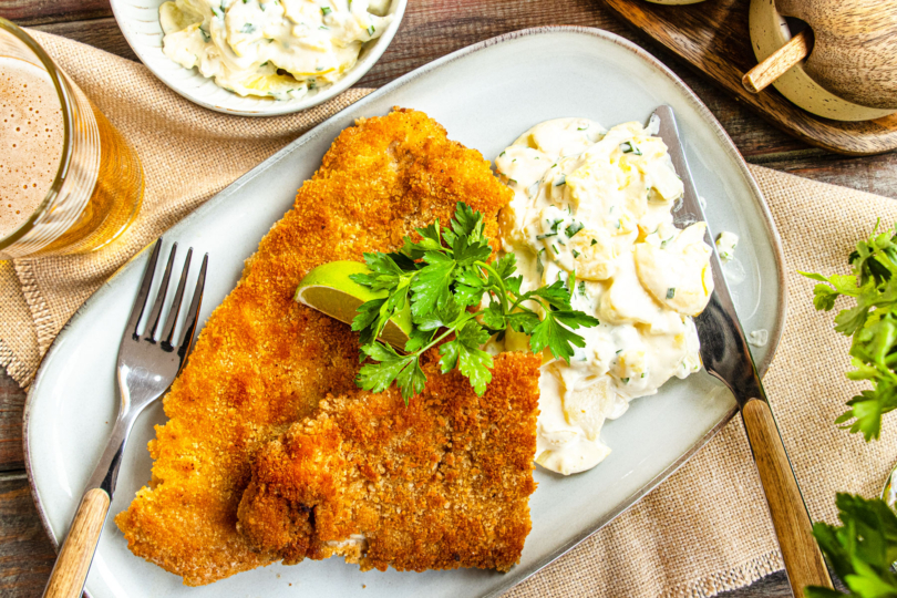
[[[0,364],[21,384],[74,310],[131,255],[369,91],[351,90],[299,115],[225,116],[181,99],[141,64],[33,34],[134,143],[146,169],[146,197],[136,224],[102,251],[0,261]],[[814,311],[813,283],[795,270],[845,271],[855,240],[878,217],[895,221],[897,204],[766,168],[752,172],[782,235],[788,271],[787,326],[766,389],[812,516],[834,522],[835,492],[879,491],[897,458],[897,419],[886,421],[883,440],[873,444],[833,425],[857,391],[844,378],[848,341],[832,331],[831,315]],[[703,597],[781,568],[736,419],[629,512],[508,596]]]

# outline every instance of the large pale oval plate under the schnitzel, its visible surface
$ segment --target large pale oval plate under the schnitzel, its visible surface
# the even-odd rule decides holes
[[[585,28],[542,28],[488,40],[435,61],[374,92],[270,157],[165,234],[163,255],[177,241],[209,252],[202,320],[234,288],[261,236],[291,207],[296,189],[318,167],[333,138],[359,116],[394,105],[422,110],[453,140],[495,156],[535,123],[585,116],[610,126],[646,121],[672,105],[711,229],[741,237],[743,280],[732,285],[746,330],[766,329],[754,349],[765,370],[779,341],[784,280],[779,237],[766,206],[732,142],[698,97],[643,50],[611,33]],[[136,293],[146,252],[125,265],[91,297],[44,358],[25,409],[29,476],[53,542],[65,535],[82,487],[116,413],[113,371],[121,333]],[[177,272],[175,272],[177,276]],[[195,276],[195,274],[194,274]],[[520,564],[502,575],[483,570],[424,574],[371,571],[338,559],[271,565],[203,588],[132,555],[106,522],[87,579],[93,598],[210,596],[462,597],[491,596],[534,574],[622,513],[679,467],[735,412],[734,399],[705,373],[672,380],[656,396],[632,403],[607,424],[614,450],[595,470],[571,477],[536,472],[530,499],[533,532]],[[165,421],[162,405],[135,425],[118,477],[112,513],[127,507],[150,480],[146,442]],[[700,484],[700,480],[694,481]],[[288,586],[292,584],[292,587]]]

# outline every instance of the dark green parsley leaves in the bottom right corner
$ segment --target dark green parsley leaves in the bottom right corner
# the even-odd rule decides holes
[[[813,535],[849,594],[811,586],[807,598],[897,597],[897,516],[884,501],[838,494],[836,504],[844,525],[817,523]]]

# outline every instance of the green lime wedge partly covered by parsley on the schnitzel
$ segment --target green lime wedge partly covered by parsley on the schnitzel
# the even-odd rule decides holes
[[[353,274],[370,274],[370,271],[360,261],[331,261],[318,266],[299,282],[293,299],[351,324],[358,306],[386,297],[386,291],[374,292],[349,278]],[[404,349],[409,333],[411,333],[411,312],[406,303],[405,308],[383,327],[380,340],[398,349]]]

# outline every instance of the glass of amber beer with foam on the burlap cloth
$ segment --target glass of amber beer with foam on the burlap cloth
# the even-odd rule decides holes
[[[0,259],[96,250],[127,229],[142,200],[131,144],[0,18]]]

